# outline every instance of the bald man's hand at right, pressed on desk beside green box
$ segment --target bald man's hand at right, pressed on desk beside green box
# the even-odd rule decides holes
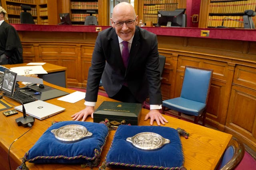
[[[148,120],[150,117],[150,125],[153,125],[154,120],[156,120],[156,123],[158,126],[161,126],[160,122],[165,125],[164,122],[168,123],[168,121],[163,117],[163,115],[160,113],[159,109],[153,109],[148,112],[148,114],[145,116],[144,121]]]

